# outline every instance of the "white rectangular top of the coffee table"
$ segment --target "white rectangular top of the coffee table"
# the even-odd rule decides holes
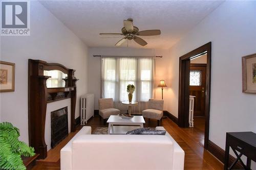
[[[107,123],[126,124],[126,125],[144,124],[145,120],[143,116],[134,116],[133,118],[126,119],[126,118],[121,118],[117,115],[111,115]]]

